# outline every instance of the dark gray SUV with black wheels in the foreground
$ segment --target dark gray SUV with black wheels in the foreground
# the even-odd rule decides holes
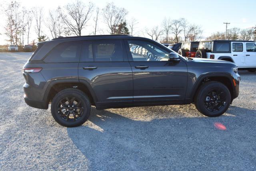
[[[179,56],[147,38],[80,36],[38,43],[24,65],[24,99],[48,109],[66,127],[83,124],[97,109],[195,103],[202,114],[222,115],[238,97],[232,62]]]

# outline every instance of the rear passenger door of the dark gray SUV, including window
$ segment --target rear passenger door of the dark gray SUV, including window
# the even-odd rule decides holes
[[[123,40],[84,41],[80,59],[79,80],[91,85],[98,105],[132,102],[132,70]]]

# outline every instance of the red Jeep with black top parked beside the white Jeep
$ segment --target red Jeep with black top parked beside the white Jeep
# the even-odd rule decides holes
[[[182,43],[178,54],[186,57],[195,57],[198,50],[199,42],[184,42]]]

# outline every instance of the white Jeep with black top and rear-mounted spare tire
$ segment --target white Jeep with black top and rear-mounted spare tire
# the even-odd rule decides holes
[[[256,44],[252,41],[202,41],[196,58],[209,58],[234,62],[239,70],[256,71]]]

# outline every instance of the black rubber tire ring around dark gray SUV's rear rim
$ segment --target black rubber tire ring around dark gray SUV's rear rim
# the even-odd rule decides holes
[[[74,96],[81,100],[81,104],[84,107],[84,112],[82,116],[76,120],[76,121],[66,121],[60,117],[58,113],[58,103],[61,99],[68,97],[68,96]],[[84,94],[81,94],[79,91],[76,90],[64,90],[60,91],[53,99],[52,99],[52,104],[51,104],[51,112],[52,116],[54,117],[55,121],[58,122],[60,125],[65,126],[65,127],[76,127],[79,125],[82,125],[90,116],[90,101],[88,97]]]

